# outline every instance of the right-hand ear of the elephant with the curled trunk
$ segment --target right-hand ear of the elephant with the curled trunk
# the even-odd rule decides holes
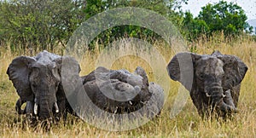
[[[245,77],[247,65],[234,55],[217,55],[218,59],[224,61],[224,89],[232,89]]]

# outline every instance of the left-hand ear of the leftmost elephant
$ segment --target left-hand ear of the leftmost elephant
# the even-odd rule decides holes
[[[15,86],[21,101],[33,101],[33,93],[30,87],[29,74],[30,67],[36,60],[28,56],[19,56],[15,58],[9,65],[7,74],[9,80]]]

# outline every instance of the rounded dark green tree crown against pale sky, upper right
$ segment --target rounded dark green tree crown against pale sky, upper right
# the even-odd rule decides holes
[[[205,20],[210,32],[224,31],[225,35],[238,35],[241,32],[252,30],[247,24],[247,15],[236,3],[220,1],[216,4],[207,4],[198,15],[199,20]]]

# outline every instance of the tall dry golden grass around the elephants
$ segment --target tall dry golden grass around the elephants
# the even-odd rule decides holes
[[[0,137],[255,137],[256,136],[256,42],[250,39],[241,38],[226,43],[220,35],[212,37],[209,41],[202,41],[189,44],[188,49],[193,49],[197,54],[211,54],[213,50],[219,50],[225,55],[237,55],[243,60],[248,71],[241,83],[241,95],[238,103],[239,112],[232,120],[202,120],[196,112],[192,101],[186,102],[183,110],[175,118],[170,118],[172,104],[177,96],[177,89],[180,83],[168,81],[172,86],[159,118],[147,124],[121,132],[111,132],[97,129],[84,121],[68,116],[64,125],[55,124],[44,132],[39,127],[34,129],[20,124],[19,116],[15,112],[15,101],[18,95],[13,84],[6,74],[7,67],[11,60],[18,53],[11,54],[9,46],[0,47]],[[174,55],[172,49],[168,49],[162,43],[154,43],[154,46],[163,55],[166,62]],[[55,49],[55,53],[58,50]],[[27,55],[29,52],[27,52]],[[88,74],[95,67],[96,56],[100,49],[94,53],[84,55],[81,63],[81,75]],[[22,54],[23,55],[23,54]],[[129,64],[131,63],[132,64]],[[133,56],[126,56],[115,61],[112,68],[126,68],[133,71],[137,66],[143,66],[148,72],[149,79],[152,78],[151,68],[145,60]],[[188,92],[189,93],[189,92]],[[17,121],[18,120],[18,121]]]

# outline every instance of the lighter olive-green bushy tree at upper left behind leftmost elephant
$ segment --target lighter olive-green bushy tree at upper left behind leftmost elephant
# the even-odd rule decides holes
[[[0,37],[12,49],[49,49],[65,45],[84,20],[83,0],[9,0],[0,2]]]

